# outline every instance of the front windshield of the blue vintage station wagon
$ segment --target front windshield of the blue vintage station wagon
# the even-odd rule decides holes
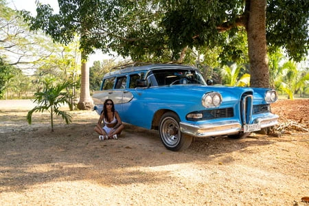
[[[194,69],[157,69],[151,76],[152,86],[206,84],[201,73]]]

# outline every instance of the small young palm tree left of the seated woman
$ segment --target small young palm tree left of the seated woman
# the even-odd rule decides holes
[[[43,113],[48,111],[50,113],[52,132],[54,132],[54,115],[61,115],[67,124],[71,122],[71,115],[65,111],[60,111],[59,108],[61,104],[69,104],[71,106],[71,95],[62,91],[67,89],[67,87],[75,86],[75,83],[72,80],[64,80],[54,86],[52,81],[52,79],[43,80],[45,86],[43,91],[34,93],[34,103],[37,103],[38,106],[35,106],[27,113],[27,122],[32,124],[32,114],[34,112]]]

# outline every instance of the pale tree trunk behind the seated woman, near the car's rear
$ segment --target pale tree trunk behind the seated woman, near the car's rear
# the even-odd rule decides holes
[[[89,89],[89,67],[87,67],[87,60],[84,60],[82,55],[82,73],[80,85],[80,101],[78,102],[78,109],[91,110],[93,108],[93,100],[90,96]]]

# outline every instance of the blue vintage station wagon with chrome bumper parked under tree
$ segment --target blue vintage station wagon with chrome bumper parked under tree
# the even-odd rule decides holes
[[[207,85],[184,65],[130,66],[104,75],[93,94],[95,111],[112,99],[123,122],[159,130],[169,150],[184,150],[193,137],[240,138],[277,124],[272,89]]]

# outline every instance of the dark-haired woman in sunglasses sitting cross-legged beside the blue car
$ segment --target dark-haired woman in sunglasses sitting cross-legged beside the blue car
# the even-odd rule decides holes
[[[101,126],[102,121],[103,126]],[[100,135],[99,139],[117,139],[117,135],[120,135],[123,129],[122,119],[120,119],[118,112],[115,111],[113,100],[105,100],[98,124],[94,128],[95,132]]]

